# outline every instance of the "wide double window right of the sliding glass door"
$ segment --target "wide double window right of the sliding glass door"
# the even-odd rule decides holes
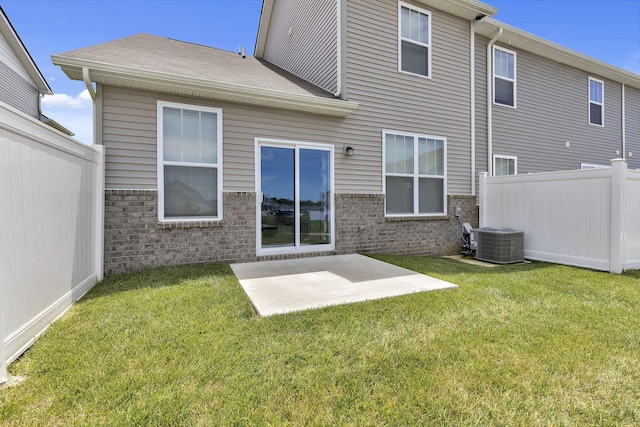
[[[446,139],[383,131],[387,215],[443,215]]]

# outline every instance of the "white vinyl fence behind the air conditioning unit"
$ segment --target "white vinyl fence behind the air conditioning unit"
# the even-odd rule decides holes
[[[480,227],[524,231],[526,258],[640,268],[640,172],[611,168],[480,177]]]

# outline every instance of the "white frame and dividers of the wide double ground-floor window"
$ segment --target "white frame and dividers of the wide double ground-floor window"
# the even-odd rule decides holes
[[[398,173],[390,173],[389,176],[404,176],[404,177],[413,177],[413,213],[401,213],[401,214],[388,214],[387,213],[387,159],[386,159],[386,140],[387,134],[392,135],[402,135],[409,136],[414,138],[413,144],[413,174],[398,174]],[[444,141],[444,175],[420,175],[418,174],[419,162],[418,159],[418,144],[416,144],[416,140],[418,138],[426,138],[426,139],[438,139]],[[430,178],[442,178],[442,212],[434,212],[434,213],[419,213],[419,179],[424,177]],[[426,135],[412,132],[403,132],[397,130],[383,129],[382,130],[382,194],[384,194],[384,216],[385,217],[433,217],[433,216],[442,216],[447,214],[447,138],[442,136],[434,136],[434,135]]]

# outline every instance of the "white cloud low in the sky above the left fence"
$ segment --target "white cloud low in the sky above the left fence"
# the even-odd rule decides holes
[[[44,96],[42,114],[69,129],[78,141],[93,144],[93,105],[86,89],[75,97],[64,93]]]

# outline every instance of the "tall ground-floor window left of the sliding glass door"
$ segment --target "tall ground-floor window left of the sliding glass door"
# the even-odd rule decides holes
[[[158,218],[222,219],[222,110],[158,102]]]

